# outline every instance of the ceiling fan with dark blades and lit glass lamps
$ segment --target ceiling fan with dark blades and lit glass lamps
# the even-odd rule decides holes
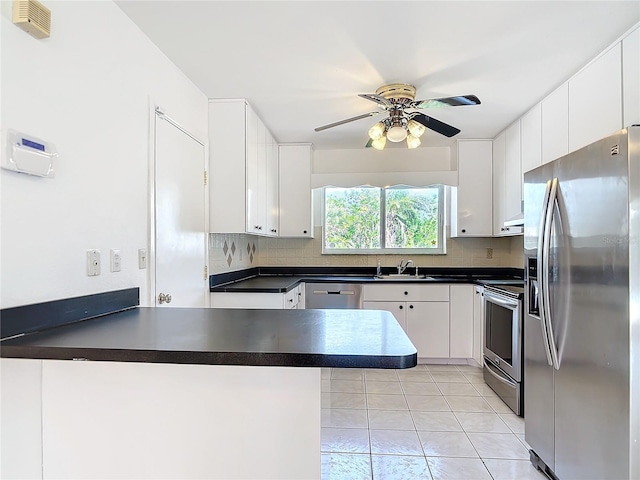
[[[453,137],[460,133],[459,129],[429,117],[419,112],[419,110],[480,104],[480,100],[475,95],[415,100],[416,87],[406,83],[383,85],[376,90],[376,93],[361,93],[358,96],[376,102],[380,110],[323,125],[315,128],[315,131],[320,132],[338,125],[388,112],[389,116],[387,118],[369,129],[369,141],[366,146],[382,150],[387,143],[387,139],[390,142],[401,142],[406,139],[408,148],[416,148],[420,145],[420,136],[427,128],[446,137]]]

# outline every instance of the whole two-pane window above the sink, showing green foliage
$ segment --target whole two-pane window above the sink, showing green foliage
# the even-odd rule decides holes
[[[323,253],[445,253],[444,189],[324,189]]]

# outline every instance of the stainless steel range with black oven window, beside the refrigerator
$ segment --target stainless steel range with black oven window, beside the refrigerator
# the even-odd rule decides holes
[[[516,415],[524,413],[522,286],[484,289],[484,380]]]

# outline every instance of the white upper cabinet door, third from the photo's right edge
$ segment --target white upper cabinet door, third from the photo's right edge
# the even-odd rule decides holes
[[[569,84],[563,83],[541,103],[542,163],[569,153]]]

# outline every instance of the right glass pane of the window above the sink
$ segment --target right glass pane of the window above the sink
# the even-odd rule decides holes
[[[385,190],[385,247],[439,248],[439,188]]]

